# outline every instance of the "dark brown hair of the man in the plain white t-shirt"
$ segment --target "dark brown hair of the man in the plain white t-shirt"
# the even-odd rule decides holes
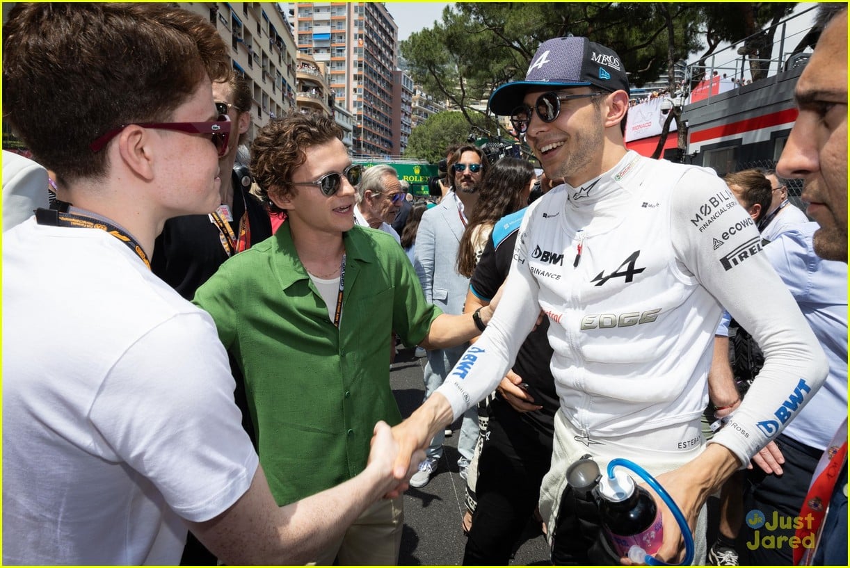
[[[215,28],[166,3],[19,3],[3,25],[3,118],[60,184],[105,174],[104,132],[168,121],[230,73]]]

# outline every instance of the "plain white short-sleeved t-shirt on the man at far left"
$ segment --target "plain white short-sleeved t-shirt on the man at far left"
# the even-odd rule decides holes
[[[99,229],[3,235],[3,562],[177,564],[257,454],[207,313]]]

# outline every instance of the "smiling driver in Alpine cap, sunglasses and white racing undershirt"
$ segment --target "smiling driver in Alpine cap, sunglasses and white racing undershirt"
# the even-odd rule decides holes
[[[491,110],[511,115],[547,176],[564,185],[524,217],[503,299],[480,339],[394,436],[404,466],[407,453],[493,390],[542,310],[560,398],[540,501],[553,561],[630,562],[628,547],[614,548],[600,530],[593,503],[567,486],[568,467],[590,454],[603,475],[614,458],[656,475],[683,509],[694,563],[703,564],[706,499],[796,416],[828,367],[723,180],[626,149],[628,90],[617,53],[558,37],[541,44],[524,81],[493,93]],[[700,415],[721,306],[751,330],[766,361],[706,445]],[[660,501],[659,509],[663,541],[656,532],[642,548],[682,560],[677,521]]]

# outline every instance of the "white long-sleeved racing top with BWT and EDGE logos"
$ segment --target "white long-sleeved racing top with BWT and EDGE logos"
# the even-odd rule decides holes
[[[653,432],[656,451],[692,446],[721,305],[766,363],[713,442],[745,464],[823,384],[823,350],[713,172],[628,152],[535,205],[494,318],[439,388],[455,417],[501,380],[540,310],[561,412],[588,444]]]

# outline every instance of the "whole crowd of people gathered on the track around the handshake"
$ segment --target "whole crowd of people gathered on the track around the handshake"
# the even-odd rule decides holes
[[[394,565],[462,419],[464,564],[532,515],[554,564],[632,563],[567,483],[587,456],[655,475],[695,564],[845,564],[847,8],[820,18],[775,171],[627,150],[619,55],[557,37],[490,97],[542,173],[452,146],[428,207],[326,115],[240,160],[250,90],[201,16],[15,5],[3,112],[41,166],[4,152],[3,563]]]

